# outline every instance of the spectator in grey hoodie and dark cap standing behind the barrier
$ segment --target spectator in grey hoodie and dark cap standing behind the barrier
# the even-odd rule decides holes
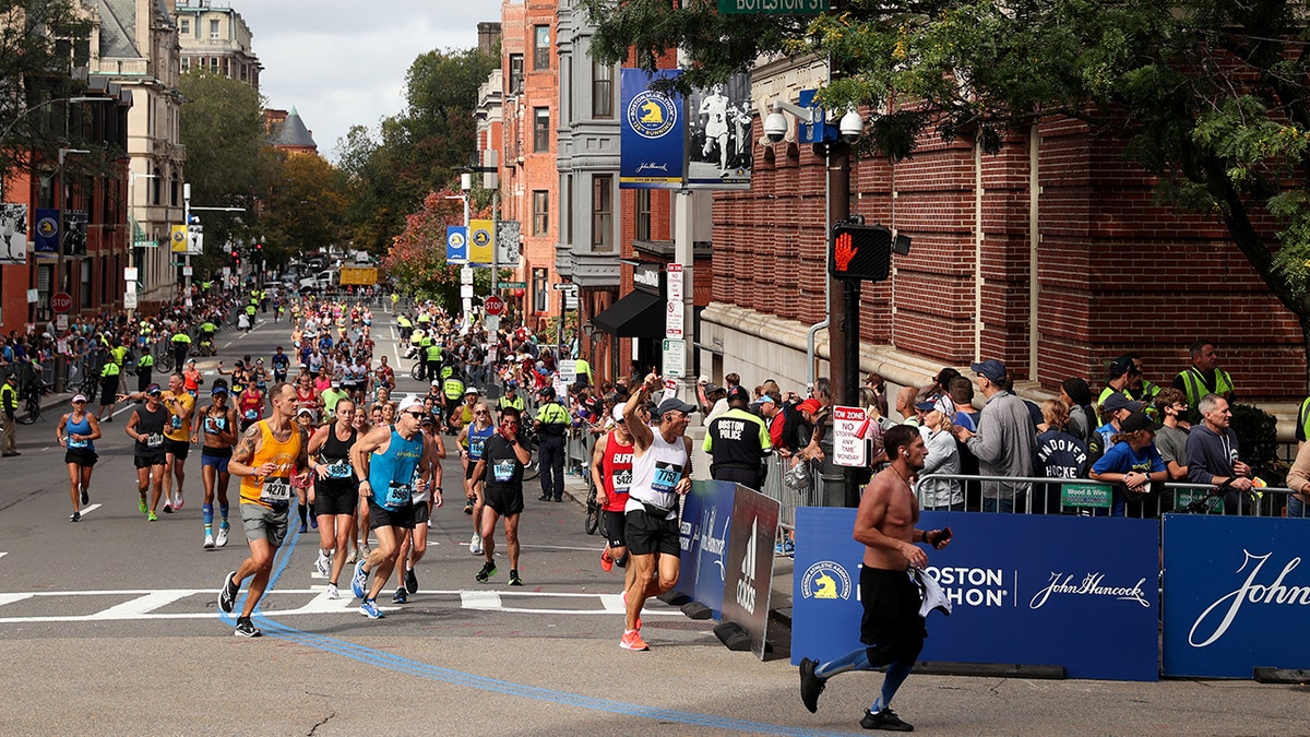
[[[979,391],[986,397],[979,431],[955,429],[955,437],[968,445],[979,459],[984,476],[1027,476],[1036,458],[1036,435],[1023,400],[1006,391],[1005,363],[988,359],[971,365]],[[1026,481],[984,481],[982,511],[1014,511],[1027,493]]]

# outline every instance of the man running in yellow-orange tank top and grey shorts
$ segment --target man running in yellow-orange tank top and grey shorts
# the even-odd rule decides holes
[[[245,606],[237,618],[234,635],[258,637],[263,635],[250,615],[263,597],[272,570],[272,557],[287,538],[287,511],[291,508],[291,483],[308,483],[314,463],[305,452],[309,443],[304,429],[292,422],[296,410],[295,392],[290,384],[272,388],[272,414],[252,425],[232,452],[228,471],[241,476],[241,522],[250,557],[223,581],[219,590],[219,608],[232,614],[241,582],[252,578]]]

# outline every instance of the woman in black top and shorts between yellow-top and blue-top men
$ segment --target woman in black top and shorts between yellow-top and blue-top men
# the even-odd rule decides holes
[[[355,403],[337,404],[337,421],[324,425],[309,438],[309,455],[316,456],[314,514],[318,517],[318,560],[314,569],[328,578],[328,598],[335,599],[337,581],[346,568],[346,549],[359,506],[359,479],[350,463],[350,448],[359,438],[354,428]]]

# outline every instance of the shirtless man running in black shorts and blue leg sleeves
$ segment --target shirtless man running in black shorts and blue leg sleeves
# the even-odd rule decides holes
[[[819,694],[828,679],[849,670],[872,670],[887,666],[883,690],[874,706],[865,711],[859,725],[865,729],[912,732],[914,728],[891,709],[892,696],[909,677],[924,649],[927,628],[920,615],[918,588],[910,580],[910,567],[927,567],[927,553],[917,546],[937,549],[950,543],[941,530],[916,530],[918,501],[910,477],[924,468],[927,446],[918,428],[896,425],[883,435],[891,463],[878,472],[865,489],[855,511],[855,540],[865,544],[865,564],[859,569],[859,602],[865,616],[859,623],[859,641],[866,647],[820,665],[800,660],[800,700],[814,713]]]

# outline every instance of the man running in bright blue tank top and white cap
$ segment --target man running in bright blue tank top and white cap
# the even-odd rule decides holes
[[[377,535],[377,548],[368,553],[367,560],[355,564],[351,581],[360,599],[359,612],[369,619],[383,618],[377,608],[377,593],[396,568],[398,536],[403,530],[414,528],[414,469],[432,463],[432,451],[419,433],[422,420],[422,403],[417,397],[406,399],[396,425],[371,430],[352,450],[355,473],[363,479],[359,496],[367,500],[369,527]],[[417,490],[424,490],[424,484],[426,480],[421,479]],[[375,576],[365,590],[369,574]]]

